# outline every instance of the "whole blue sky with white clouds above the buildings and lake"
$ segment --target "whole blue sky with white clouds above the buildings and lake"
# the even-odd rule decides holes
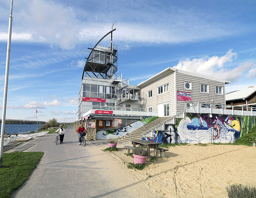
[[[0,1],[0,118],[10,0]],[[167,67],[256,86],[256,1],[14,0],[6,119],[74,122],[87,47],[116,23],[118,71],[138,85]],[[116,21],[116,22],[115,22]],[[110,37],[101,44],[110,45]]]

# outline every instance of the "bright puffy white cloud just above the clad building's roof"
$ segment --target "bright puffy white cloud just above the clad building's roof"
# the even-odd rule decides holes
[[[237,58],[237,53],[232,49],[221,57],[218,56],[202,56],[195,59],[180,60],[174,68],[188,72],[198,73],[205,76],[212,76],[223,80],[236,81],[244,72],[247,72],[255,63],[247,61],[238,66],[228,67]]]

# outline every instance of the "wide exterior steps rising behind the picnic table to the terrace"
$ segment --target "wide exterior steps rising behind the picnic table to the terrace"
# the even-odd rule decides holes
[[[132,143],[132,141],[131,141],[132,139],[141,139],[142,137],[144,137],[142,135],[143,132],[151,129],[152,127],[158,125],[159,123],[165,121],[168,118],[169,117],[158,117],[156,120],[153,120],[152,122],[149,122],[148,124],[138,128],[137,130],[123,136],[120,140]]]

